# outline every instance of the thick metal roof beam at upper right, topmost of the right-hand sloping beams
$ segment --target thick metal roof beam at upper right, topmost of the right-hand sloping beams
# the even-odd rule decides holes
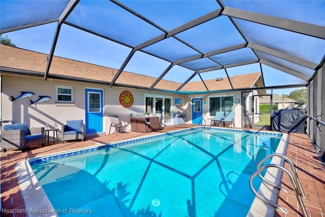
[[[280,17],[274,17],[265,14],[259,14],[255,12],[249,12],[241,9],[225,7],[222,11],[223,15],[235,17],[251,22],[256,22],[276,28],[285,29],[291,32],[303,34],[306,36],[312,36],[319,39],[325,39],[325,27],[315,25],[311,23],[305,23],[295,20],[284,19]]]

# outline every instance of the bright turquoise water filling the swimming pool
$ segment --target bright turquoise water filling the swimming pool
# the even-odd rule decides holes
[[[31,167],[59,216],[246,216],[249,177],[280,139],[194,129]]]

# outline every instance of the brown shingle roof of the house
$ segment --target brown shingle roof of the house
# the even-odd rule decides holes
[[[47,66],[48,55],[34,51],[0,45],[0,66],[11,69],[27,70],[44,73]],[[70,78],[83,78],[93,81],[111,82],[117,73],[117,69],[93,65],[53,56],[49,77],[51,75],[67,76]],[[251,88],[257,83],[263,86],[261,73],[251,73],[240,76],[233,76],[231,82],[236,88]],[[156,78],[123,71],[115,84],[141,86],[149,88]],[[205,80],[209,90],[232,89],[228,79],[215,81]],[[262,85],[261,85],[262,84]],[[176,90],[181,84],[174,81],[161,79],[156,85],[157,89]],[[202,81],[188,82],[181,91],[207,91]]]

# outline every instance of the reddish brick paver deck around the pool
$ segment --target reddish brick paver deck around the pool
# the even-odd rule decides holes
[[[19,150],[7,150],[5,153],[0,152],[1,216],[26,216],[25,213],[3,212],[4,209],[9,212],[27,208],[24,206],[15,171],[15,164],[18,162],[29,158],[43,156],[45,154],[88,147],[96,143],[115,142],[195,126],[196,125],[168,126],[164,127],[163,130],[151,133],[130,132],[127,134],[119,133],[117,136],[116,134],[111,134],[100,137],[85,138],[84,142],[72,141],[65,142],[64,144],[58,143],[45,147],[40,146],[37,148],[32,148],[26,152],[21,152]],[[303,202],[305,204],[308,216],[325,216],[325,166],[315,153],[315,148],[313,147],[308,135],[289,134],[289,143],[286,156],[291,159],[298,172],[303,190],[306,194],[306,198],[303,198]],[[287,163],[285,163],[284,167],[290,170]],[[274,216],[303,216],[295,196],[295,191],[293,190],[288,176],[285,174],[282,177],[281,186],[289,193],[287,194],[285,192],[280,192],[277,204],[287,209],[289,213],[285,214],[280,210],[275,210]]]

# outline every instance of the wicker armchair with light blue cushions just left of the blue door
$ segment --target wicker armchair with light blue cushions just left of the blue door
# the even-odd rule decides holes
[[[85,138],[85,124],[83,120],[67,120],[67,124],[62,126],[61,142],[67,140],[81,139],[83,142]]]

